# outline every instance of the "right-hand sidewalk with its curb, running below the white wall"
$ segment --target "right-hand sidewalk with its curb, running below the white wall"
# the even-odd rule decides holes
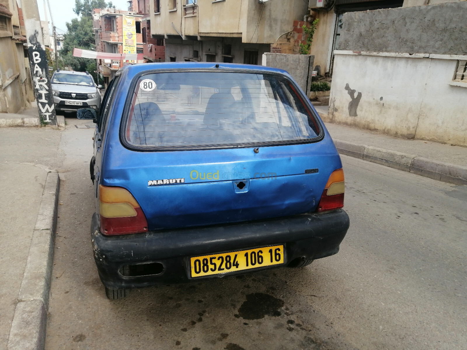
[[[328,106],[315,106],[327,116]],[[467,147],[424,140],[408,140],[325,123],[341,154],[374,161],[436,180],[467,185]]]

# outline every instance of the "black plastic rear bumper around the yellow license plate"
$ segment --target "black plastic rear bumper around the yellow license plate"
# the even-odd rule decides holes
[[[340,242],[349,227],[349,217],[342,210],[301,214],[291,217],[239,224],[149,231],[122,236],[100,233],[96,214],[92,217],[91,236],[94,260],[102,283],[113,289],[140,288],[183,283],[223,275],[192,279],[189,257],[285,244],[285,262],[280,266],[259,267],[251,272],[287,266],[293,260],[319,259],[339,252]],[[160,263],[162,273],[146,276],[123,276],[122,266]],[[248,271],[231,272],[243,274]]]

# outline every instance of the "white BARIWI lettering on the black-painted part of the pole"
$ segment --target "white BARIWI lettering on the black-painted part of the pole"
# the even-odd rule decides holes
[[[37,40],[39,33],[29,35],[29,64],[34,85],[34,95],[37,102],[37,110],[42,123],[57,125],[52,86],[49,79],[49,64],[45,56],[45,50]]]

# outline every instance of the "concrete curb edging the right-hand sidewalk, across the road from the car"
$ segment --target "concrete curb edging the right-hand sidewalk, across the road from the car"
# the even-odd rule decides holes
[[[340,154],[408,171],[438,181],[467,185],[467,167],[342,140],[334,140],[334,145]]]

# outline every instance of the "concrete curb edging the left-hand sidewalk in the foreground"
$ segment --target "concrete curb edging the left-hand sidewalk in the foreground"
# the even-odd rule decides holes
[[[48,173],[14,310],[8,350],[44,348],[59,189],[58,173]]]

